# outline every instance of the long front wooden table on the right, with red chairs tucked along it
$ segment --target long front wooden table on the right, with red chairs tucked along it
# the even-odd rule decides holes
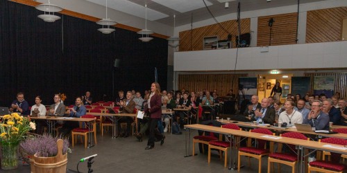
[[[285,143],[288,145],[296,145],[298,146],[298,172],[304,172],[305,165],[303,158],[305,157],[304,152],[305,149],[315,149],[315,150],[323,150],[326,152],[335,152],[340,154],[347,154],[347,147],[343,145],[332,145],[328,143],[321,143],[316,142],[313,140],[300,140],[295,138],[285,138],[282,136],[276,136],[277,138],[273,138],[269,135],[262,135],[258,133],[253,133],[251,131],[240,131],[235,129],[226,129],[221,127],[212,127],[209,125],[185,125],[185,156],[191,156],[190,153],[190,129],[196,129],[196,130],[202,130],[202,131],[211,131],[217,134],[224,134],[228,137],[232,138],[230,140],[230,160],[229,160],[229,170],[233,169],[236,170],[236,163],[237,163],[237,154],[236,154],[236,145],[237,143],[232,143],[232,141],[235,141],[235,136],[241,136],[241,137],[249,137],[249,138],[255,138],[255,139],[261,139],[261,140],[268,140],[271,142],[276,143]],[[232,145],[233,144],[233,145]],[[188,145],[188,146],[187,146]],[[231,147],[233,147],[233,153],[231,151]],[[234,161],[233,167],[231,167],[231,159]]]

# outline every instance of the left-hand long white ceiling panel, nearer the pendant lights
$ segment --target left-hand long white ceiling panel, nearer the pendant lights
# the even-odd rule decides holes
[[[101,6],[106,6],[105,0],[87,0],[92,3],[99,4]],[[126,0],[117,0],[117,1],[108,1],[108,8],[112,8],[115,10],[119,10],[121,12],[126,12],[130,15],[134,15],[137,17],[145,18],[145,8],[137,3],[133,3]],[[152,10],[151,7],[147,6],[147,19],[150,21],[155,21],[158,19],[162,19],[165,17],[169,17],[162,12],[158,12]]]

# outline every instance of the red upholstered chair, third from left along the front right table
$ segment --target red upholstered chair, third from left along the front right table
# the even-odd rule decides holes
[[[251,132],[258,134],[267,134],[267,135],[275,135],[269,129],[259,128],[252,129]],[[247,147],[240,147],[238,154],[238,163],[237,163],[237,171],[240,171],[241,166],[241,156],[248,156],[257,158],[259,161],[258,170],[259,173],[262,172],[262,156],[269,155],[273,150],[273,142],[270,142],[270,149],[266,149],[266,140],[257,140],[258,146],[251,147],[252,138],[248,138]],[[248,158],[248,166],[251,166],[251,160]]]

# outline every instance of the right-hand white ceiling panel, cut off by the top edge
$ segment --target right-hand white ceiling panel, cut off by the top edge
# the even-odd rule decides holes
[[[159,3],[162,6],[166,6],[167,8],[174,9],[179,12],[188,12],[192,10],[196,10],[198,8],[205,7],[205,4],[202,0],[151,0],[155,3]],[[211,6],[212,3],[210,1],[205,0],[207,6]]]

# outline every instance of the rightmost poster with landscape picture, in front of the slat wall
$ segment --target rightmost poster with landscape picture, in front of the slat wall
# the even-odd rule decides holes
[[[313,94],[324,93],[327,98],[331,98],[335,88],[334,76],[314,76]]]

